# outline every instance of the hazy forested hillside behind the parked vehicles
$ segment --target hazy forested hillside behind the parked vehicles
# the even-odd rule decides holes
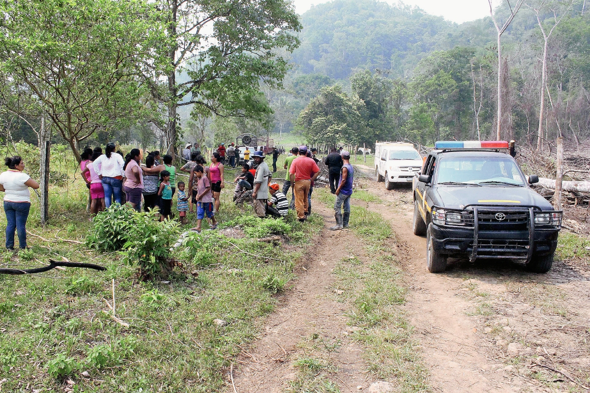
[[[500,26],[513,6],[504,2],[494,10]],[[500,129],[504,139],[540,141],[539,148],[550,147],[558,135],[577,147],[590,127],[590,24],[584,7],[583,0],[522,4],[501,35],[499,78],[491,17],[457,25],[418,8],[378,1],[314,6],[301,17],[301,44],[293,53],[286,93],[274,97],[273,107],[281,113],[277,124],[315,142],[495,139]],[[545,84],[539,24],[550,32]],[[343,89],[320,92],[322,85],[334,84]],[[346,110],[355,111],[335,116],[329,107],[343,99]],[[545,124],[539,129],[541,111]]]

